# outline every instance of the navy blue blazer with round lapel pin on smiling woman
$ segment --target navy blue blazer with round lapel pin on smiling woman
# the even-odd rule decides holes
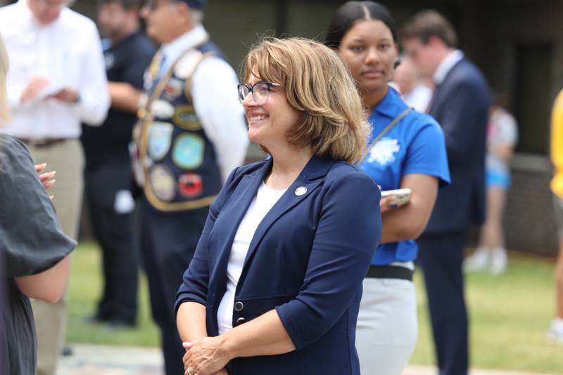
[[[175,311],[186,301],[205,305],[209,336],[218,334],[234,235],[271,168],[271,159],[262,160],[230,174],[184,273]],[[300,196],[301,186],[307,191]],[[380,197],[355,166],[311,158],[256,229],[233,310],[236,326],[276,309],[297,349],[236,358],[234,374],[360,374],[355,328],[362,280],[381,236]]]

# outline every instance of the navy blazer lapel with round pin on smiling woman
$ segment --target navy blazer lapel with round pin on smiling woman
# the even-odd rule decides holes
[[[289,186],[284,195],[279,198],[279,201],[274,204],[274,207],[272,207],[270,212],[268,212],[264,219],[262,219],[262,222],[258,225],[248,248],[248,253],[246,254],[246,258],[244,260],[243,271],[239,283],[243,281],[248,262],[250,262],[267,230],[270,229],[272,224],[274,224],[281,215],[284,215],[285,212],[298,205],[321,184],[323,179],[320,177],[324,177],[324,175],[327,174],[333,163],[334,160],[313,156],[311,160],[309,160],[309,163],[305,165],[305,168],[303,168],[303,171],[301,171],[301,174],[299,174],[293,184]]]

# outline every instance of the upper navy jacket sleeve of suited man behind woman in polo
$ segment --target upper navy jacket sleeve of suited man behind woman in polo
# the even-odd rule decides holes
[[[487,110],[488,93],[477,82],[465,80],[450,90],[448,105],[440,117],[450,165],[462,163],[471,155],[477,141],[475,132],[480,134],[486,128]]]

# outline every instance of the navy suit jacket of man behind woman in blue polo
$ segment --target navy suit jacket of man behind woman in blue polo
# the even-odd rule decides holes
[[[466,58],[436,87],[429,113],[442,126],[452,182],[438,190],[424,234],[464,232],[483,222],[488,107],[485,78]]]

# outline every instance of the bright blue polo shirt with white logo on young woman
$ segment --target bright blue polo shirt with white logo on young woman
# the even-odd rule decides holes
[[[384,99],[369,116],[372,126],[372,143],[407,104],[397,91],[389,87]],[[450,184],[448,156],[440,125],[434,117],[412,110],[394,125],[367,153],[360,170],[372,177],[381,190],[400,189],[405,174],[429,174],[438,177],[439,185]],[[392,262],[409,262],[417,258],[418,247],[414,240],[384,243],[377,248],[372,265],[389,265]]]

